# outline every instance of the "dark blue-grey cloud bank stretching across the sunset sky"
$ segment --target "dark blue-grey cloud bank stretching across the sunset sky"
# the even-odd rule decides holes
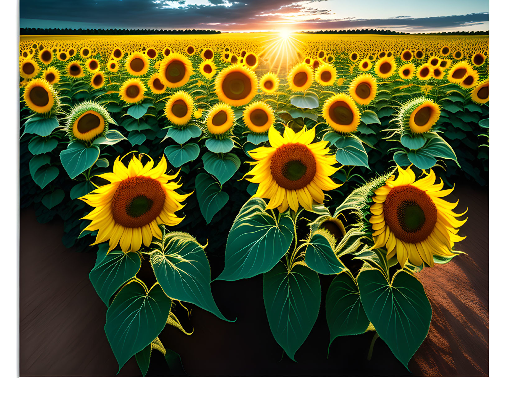
[[[402,31],[462,30],[488,21],[488,13],[428,18],[397,16],[383,19],[338,18],[333,12],[313,7],[323,0],[208,0],[208,6],[169,2],[179,8],[163,8],[166,0],[20,0],[20,18],[55,21],[53,27],[270,30],[293,22],[294,30],[388,28]],[[190,1],[192,2],[192,0]],[[316,4],[317,5],[317,4]],[[48,23],[41,26],[48,27]],[[23,21],[21,21],[21,27]],[[28,27],[28,26],[27,26]]]

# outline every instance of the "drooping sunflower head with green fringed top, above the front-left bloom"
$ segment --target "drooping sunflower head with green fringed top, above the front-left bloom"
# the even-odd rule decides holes
[[[67,134],[74,140],[91,143],[108,131],[113,119],[102,105],[85,101],[75,106],[67,120]]]

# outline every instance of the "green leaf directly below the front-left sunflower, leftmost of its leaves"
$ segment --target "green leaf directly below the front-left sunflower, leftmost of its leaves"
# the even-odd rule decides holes
[[[108,306],[111,295],[125,282],[134,278],[140,268],[141,258],[136,252],[111,251],[101,261],[96,262],[88,277],[93,288]]]

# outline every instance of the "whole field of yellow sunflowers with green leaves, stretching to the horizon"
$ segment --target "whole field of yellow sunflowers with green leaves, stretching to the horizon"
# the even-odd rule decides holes
[[[22,36],[19,73],[21,207],[97,252],[119,369],[155,349],[182,372],[158,338],[192,334],[178,308],[234,322],[210,265],[263,275],[291,359],[323,297],[330,344],[375,331],[407,367],[432,317],[418,272],[465,238],[446,197],[488,184],[488,37]]]

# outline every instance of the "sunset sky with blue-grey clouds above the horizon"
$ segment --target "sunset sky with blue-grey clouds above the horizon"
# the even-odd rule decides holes
[[[20,0],[20,27],[216,29],[489,29],[488,0]]]

